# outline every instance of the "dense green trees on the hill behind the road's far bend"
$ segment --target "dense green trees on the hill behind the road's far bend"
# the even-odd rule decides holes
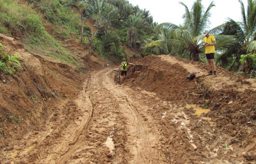
[[[126,46],[134,51],[139,51],[140,46],[151,35],[154,27],[153,17],[150,16],[149,11],[139,9],[138,6],[134,7],[127,0],[88,0],[84,16],[93,23],[96,29],[90,35],[85,36],[89,41],[86,43],[91,52],[89,56],[92,51],[96,51],[111,60],[119,60],[119,58],[127,56],[124,51],[120,51],[124,50]],[[108,37],[108,33],[118,35]],[[110,39],[108,44],[111,44],[111,49],[104,48],[106,37]],[[123,44],[117,44],[117,39]],[[114,45],[115,48],[113,48]],[[120,49],[120,46],[123,48]]]

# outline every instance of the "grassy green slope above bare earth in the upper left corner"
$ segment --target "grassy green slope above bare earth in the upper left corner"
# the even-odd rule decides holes
[[[18,1],[0,0],[0,9],[0,33],[22,37],[28,51],[42,50],[43,53],[55,59],[66,63],[76,63],[71,53],[48,34],[42,16],[35,11],[34,4],[19,4]],[[75,31],[75,26],[71,26],[69,29]]]

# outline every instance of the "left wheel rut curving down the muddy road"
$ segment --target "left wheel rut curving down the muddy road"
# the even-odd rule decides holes
[[[87,93],[90,82],[91,78],[84,82],[83,89],[78,95],[78,98],[73,101],[75,104],[73,110],[79,111],[73,115],[74,121],[70,122],[69,120],[66,120],[68,126],[63,127],[66,128],[64,133],[59,138],[55,138],[55,140],[57,140],[56,144],[53,144],[51,146],[51,151],[47,152],[46,157],[38,160],[38,162],[53,164],[65,163],[67,156],[76,149],[76,145],[79,143],[79,138],[82,133],[86,132],[93,113],[92,104]],[[68,112],[73,112],[71,110]]]

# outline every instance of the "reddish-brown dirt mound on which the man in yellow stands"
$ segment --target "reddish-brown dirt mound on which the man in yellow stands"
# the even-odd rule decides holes
[[[234,111],[236,110],[234,105],[237,104],[235,106],[238,109],[245,108],[243,112],[247,115],[246,121],[256,119],[253,109],[256,105],[254,81],[250,79],[249,83],[248,80],[238,77],[234,72],[219,67],[217,78],[206,77],[204,75],[207,73],[204,69],[207,68],[206,64],[199,62],[189,64],[188,62],[166,55],[145,57],[138,62],[140,65],[129,69],[130,86],[143,87],[168,101],[207,104],[209,107],[214,107],[215,111],[226,106],[232,106]],[[190,81],[186,77],[192,71],[199,71],[201,74]]]

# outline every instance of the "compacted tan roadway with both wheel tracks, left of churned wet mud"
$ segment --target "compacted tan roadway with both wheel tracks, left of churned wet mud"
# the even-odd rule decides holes
[[[147,106],[130,98],[140,93],[115,85],[112,78],[112,69],[93,72],[75,100],[60,104],[44,131],[31,133],[18,151],[9,152],[15,154],[9,162],[166,163]]]

